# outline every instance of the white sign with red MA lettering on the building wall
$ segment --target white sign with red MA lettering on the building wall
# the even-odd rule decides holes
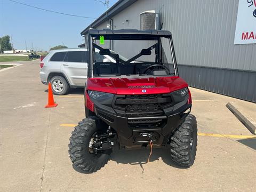
[[[256,0],[239,0],[234,44],[256,43]]]

